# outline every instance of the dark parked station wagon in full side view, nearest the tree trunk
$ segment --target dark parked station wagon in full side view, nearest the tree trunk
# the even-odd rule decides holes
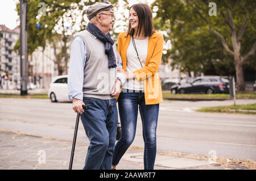
[[[219,76],[201,76],[197,77],[191,83],[185,83],[177,87],[180,94],[189,93],[226,93],[229,94],[229,80]]]

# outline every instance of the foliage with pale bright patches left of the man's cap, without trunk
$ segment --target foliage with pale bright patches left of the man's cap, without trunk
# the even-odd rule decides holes
[[[37,47],[45,47],[47,40],[51,43],[52,41],[59,41],[56,39],[56,36],[61,35],[70,35],[70,32],[77,32],[73,28],[74,24],[80,24],[80,30],[85,30],[86,16],[85,7],[92,5],[95,2],[99,1],[84,1],[84,0],[30,0],[27,3],[27,42],[28,42],[28,54],[34,52]],[[111,3],[117,3],[118,0],[110,0]],[[43,9],[44,3],[45,9]],[[20,14],[20,3],[16,5],[18,15]],[[45,15],[43,15],[45,12]],[[81,19],[79,15],[82,16]],[[67,21],[71,23],[71,26],[61,27],[61,23]],[[36,24],[40,23],[40,27],[36,27]],[[58,26],[59,24],[59,26]],[[58,31],[56,31],[56,29]],[[59,35],[57,35],[59,34]],[[68,36],[64,36],[63,40],[68,39]],[[16,42],[15,50],[19,50],[19,40]]]

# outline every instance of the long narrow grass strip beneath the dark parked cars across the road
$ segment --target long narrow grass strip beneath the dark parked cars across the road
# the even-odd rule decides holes
[[[205,100],[228,100],[229,94],[171,94],[163,92],[164,99],[205,99]],[[255,92],[245,92],[236,95],[236,99],[256,99]]]

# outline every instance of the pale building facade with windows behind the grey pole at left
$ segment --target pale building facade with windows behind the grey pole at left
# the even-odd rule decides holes
[[[19,35],[19,27],[11,30],[0,24],[0,88],[20,88],[20,56],[13,50]],[[51,79],[57,74],[54,73],[53,59],[53,49],[49,44],[44,51],[38,47],[32,54],[28,54],[28,89],[48,89]]]

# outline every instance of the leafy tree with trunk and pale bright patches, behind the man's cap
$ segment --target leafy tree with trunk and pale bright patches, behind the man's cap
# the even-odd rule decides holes
[[[97,1],[30,0],[27,5],[28,54],[52,45],[58,74],[68,73],[69,43],[72,35],[85,29],[85,7]],[[101,1],[100,1],[101,2]],[[16,5],[19,14],[19,3]],[[15,50],[19,50],[19,40]]]

